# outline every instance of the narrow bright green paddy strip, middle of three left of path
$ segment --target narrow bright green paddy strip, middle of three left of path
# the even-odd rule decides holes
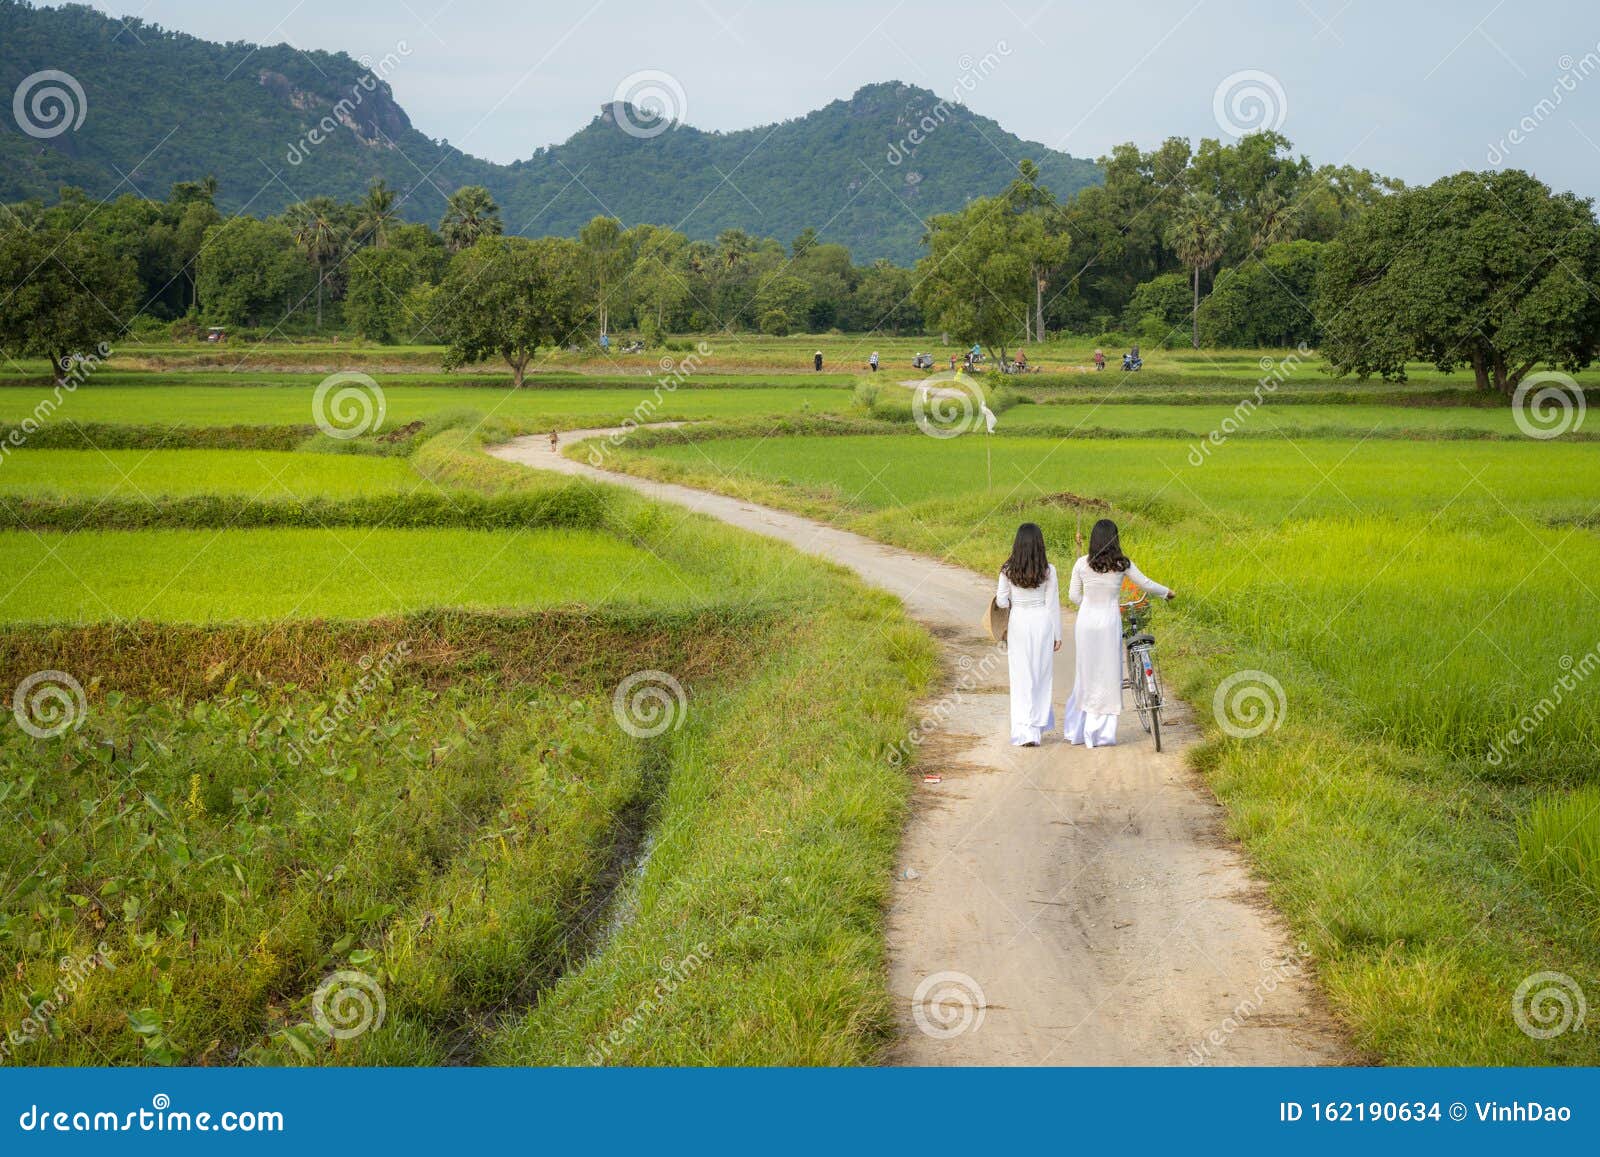
[[[246,494],[304,499],[422,485],[397,458],[266,450],[26,450],[0,461],[0,496]],[[0,498],[3,501],[3,498]]]

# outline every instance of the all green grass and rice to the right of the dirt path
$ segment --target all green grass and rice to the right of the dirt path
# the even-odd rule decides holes
[[[1195,765],[1357,1047],[1411,1064],[1600,1061],[1594,1034],[1534,1040],[1510,1016],[1531,973],[1600,981],[1600,912],[1578,883],[1592,813],[1568,797],[1594,783],[1600,696],[1579,680],[1538,706],[1600,647],[1590,446],[1240,438],[1192,466],[1160,438],[658,437],[613,461],[984,573],[1026,518],[1070,552],[1075,507],[1042,499],[1110,501],[1133,557],[1181,592],[1155,632],[1208,733]],[[1246,671],[1286,706],[1278,730],[1232,739],[1213,695]],[[1504,744],[1530,715],[1526,741]]]

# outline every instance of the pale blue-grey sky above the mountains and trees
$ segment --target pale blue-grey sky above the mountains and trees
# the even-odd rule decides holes
[[[101,0],[211,40],[381,59],[424,133],[498,162],[624,78],[733,130],[904,80],[1098,157],[1266,115],[1317,162],[1429,181],[1517,166],[1600,195],[1600,5],[1555,0]],[[989,66],[984,66],[989,61]],[[1230,86],[1224,86],[1227,78]],[[1219,107],[1219,86],[1222,99]],[[1229,110],[1227,93],[1243,104]],[[1251,96],[1261,101],[1251,101]],[[1542,104],[1541,104],[1542,102]],[[1248,123],[1243,123],[1248,128]],[[1491,162],[1496,162],[1491,165]]]

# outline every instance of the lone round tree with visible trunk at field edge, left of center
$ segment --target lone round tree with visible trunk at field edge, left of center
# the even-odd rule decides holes
[[[485,237],[440,286],[445,368],[502,357],[522,386],[539,346],[560,346],[582,315],[584,254],[565,237]]]

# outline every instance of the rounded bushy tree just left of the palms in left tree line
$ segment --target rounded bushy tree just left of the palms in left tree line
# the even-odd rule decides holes
[[[197,261],[205,314],[219,325],[286,317],[312,288],[312,270],[282,221],[229,218],[211,226]]]

